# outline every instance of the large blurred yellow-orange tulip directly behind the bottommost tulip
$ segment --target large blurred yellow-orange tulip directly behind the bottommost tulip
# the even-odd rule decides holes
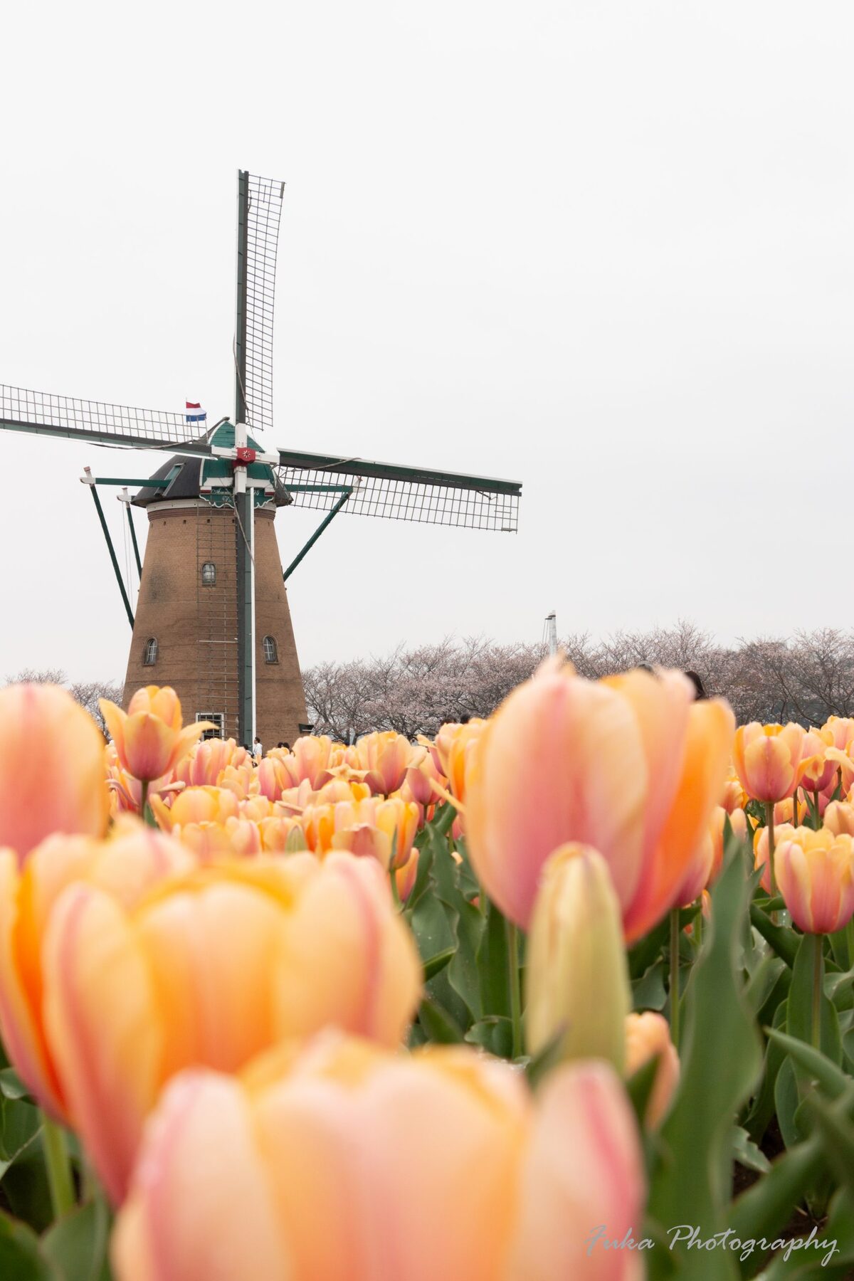
[[[396,1045],[420,991],[380,869],[348,854],[206,869],[131,908],[72,885],[47,922],[42,965],[58,1076],[114,1202],[146,1116],[181,1068],[233,1072],[328,1024]]]

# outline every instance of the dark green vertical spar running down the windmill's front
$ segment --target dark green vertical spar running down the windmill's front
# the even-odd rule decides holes
[[[250,175],[237,174],[237,307],[234,320],[234,446],[247,445],[246,430],[246,279]],[[234,466],[234,537],[237,552],[237,724],[241,743],[255,738],[255,503],[246,464]]]

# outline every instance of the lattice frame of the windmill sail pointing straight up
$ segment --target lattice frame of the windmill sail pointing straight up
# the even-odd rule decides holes
[[[246,233],[246,419],[252,430],[273,428],[273,315],[275,257],[284,183],[248,174]]]

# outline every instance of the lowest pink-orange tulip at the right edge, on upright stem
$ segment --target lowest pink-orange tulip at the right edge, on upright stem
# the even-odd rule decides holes
[[[854,838],[800,828],[777,844],[773,867],[791,918],[804,934],[835,934],[854,916]]]

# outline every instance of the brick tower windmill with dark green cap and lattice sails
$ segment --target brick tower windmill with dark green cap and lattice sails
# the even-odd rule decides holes
[[[282,182],[238,173],[233,421],[223,418],[206,429],[204,415],[189,405],[184,412],[141,410],[0,384],[3,429],[170,455],[154,477],[93,477],[87,468],[81,478],[97,509],[133,628],[125,706],[136,688],[155,678],[174,685],[191,716],[214,719],[224,737],[251,743],[259,728],[262,666],[268,744],[306,728],[284,582],[339,512],[515,533],[521,496],[521,485],[511,480],[259,443],[261,434],[269,442],[273,429],[283,193]],[[122,489],[140,573],[136,616],[99,485]],[[138,487],[133,498],[131,487]],[[291,505],[326,515],[283,571],[271,519],[278,507]],[[149,515],[145,564],[132,506]]]

